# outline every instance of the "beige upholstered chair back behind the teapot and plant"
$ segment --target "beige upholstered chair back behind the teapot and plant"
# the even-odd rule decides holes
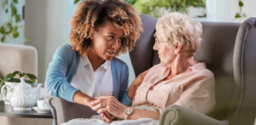
[[[14,71],[38,76],[38,51],[27,45],[0,43],[0,78]]]

